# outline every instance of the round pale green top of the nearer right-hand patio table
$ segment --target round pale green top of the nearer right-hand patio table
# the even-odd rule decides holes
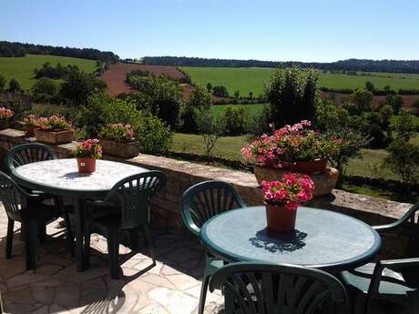
[[[267,233],[261,206],[210,218],[201,228],[200,238],[210,254],[227,262],[286,263],[332,273],[371,261],[381,248],[378,233],[361,220],[307,207],[298,208],[293,233]]]

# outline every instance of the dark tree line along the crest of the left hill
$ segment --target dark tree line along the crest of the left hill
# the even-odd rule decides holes
[[[61,46],[44,46],[24,43],[0,41],[0,56],[52,55],[71,56],[82,59],[99,60],[106,63],[116,63],[119,59],[110,51],[100,51],[93,48],[73,48]]]

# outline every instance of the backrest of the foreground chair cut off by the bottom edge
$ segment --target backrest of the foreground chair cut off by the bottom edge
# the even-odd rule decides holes
[[[210,290],[221,289],[226,313],[332,314],[345,310],[342,283],[318,269],[292,265],[240,262],[220,268]]]

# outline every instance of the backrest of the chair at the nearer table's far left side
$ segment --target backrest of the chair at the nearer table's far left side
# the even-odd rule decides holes
[[[182,218],[186,227],[199,235],[199,229],[210,218],[246,204],[230,184],[205,181],[189,187],[182,196]]]

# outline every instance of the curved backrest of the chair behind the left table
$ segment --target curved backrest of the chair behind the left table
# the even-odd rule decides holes
[[[36,161],[56,159],[56,153],[44,144],[28,143],[12,147],[5,156],[5,167],[12,171],[15,167]]]

